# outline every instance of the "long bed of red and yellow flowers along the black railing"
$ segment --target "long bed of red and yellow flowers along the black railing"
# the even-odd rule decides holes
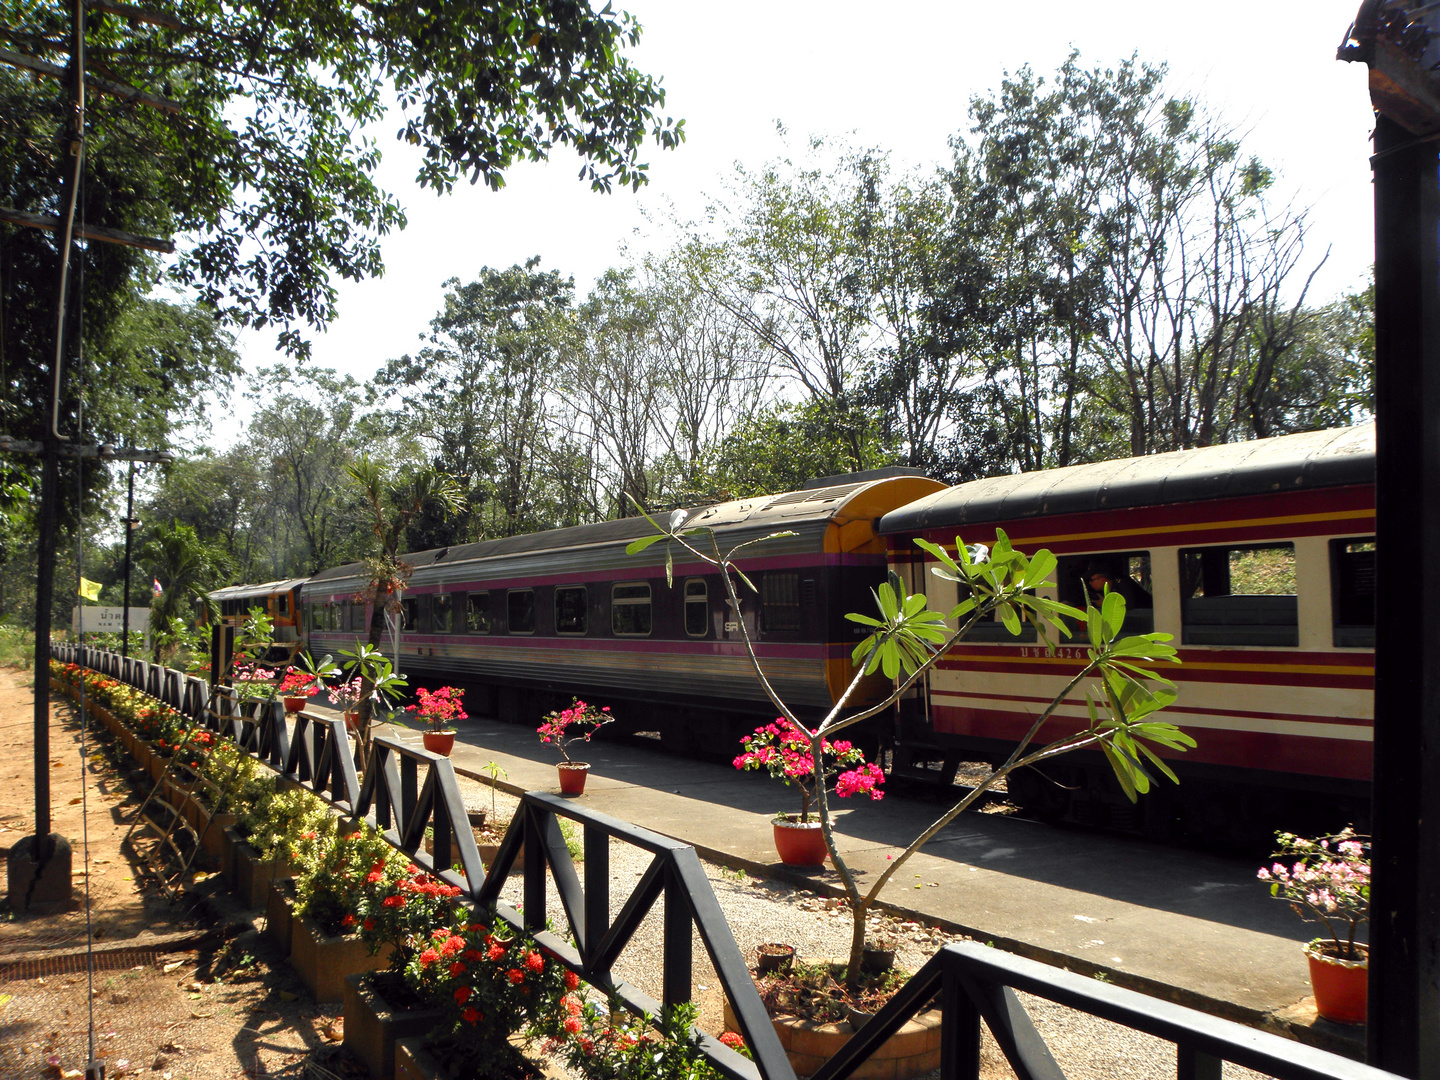
[[[541,1040],[577,1076],[593,1080],[636,1076],[641,1066],[654,1076],[716,1076],[684,1037],[691,1007],[674,1011],[655,1031],[649,1018],[582,1001],[579,976],[556,956],[492,912],[462,904],[459,888],[422,871],[370,825],[347,821],[347,831],[314,793],[276,782],[223,736],[202,730],[187,739],[180,713],[125,684],[73,664],[52,662],[52,675],[71,691],[84,685],[96,716],[105,710],[104,723],[122,744],[130,736],[137,759],[151,746],[166,757],[180,755],[177,766],[186,779],[171,785],[170,793],[183,796],[192,821],[203,827],[212,799],[225,793],[222,812],[233,825],[220,828],[216,821],[210,831],[223,835],[217,844],[232,852],[223,867],[232,887],[252,907],[265,903],[266,893],[278,899],[271,910],[276,933],[292,912],[292,962],[317,999],[344,998],[347,1020],[353,1005],[357,1017],[369,1012],[393,1021],[387,1032],[360,1021],[346,1025],[346,1041],[374,1076],[399,1068],[387,1057],[389,1047],[403,1044],[399,1034],[420,1024],[432,1030],[425,1040],[426,1068],[435,1071],[426,1076],[526,1071],[520,1054]],[[291,876],[292,883],[274,888],[275,878]],[[347,982],[346,976],[383,965],[387,995],[415,1007],[405,1009],[405,1018],[386,999],[363,991],[374,982]],[[416,1054],[405,1057],[403,1068],[413,1066]]]

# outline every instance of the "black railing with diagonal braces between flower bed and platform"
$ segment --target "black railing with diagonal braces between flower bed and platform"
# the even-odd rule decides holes
[[[137,687],[173,684],[143,661],[132,662],[127,672],[99,651],[55,645],[52,652],[59,660],[99,671],[112,670],[115,677]],[[724,912],[688,844],[547,792],[526,792],[487,873],[474,834],[461,824],[465,806],[448,757],[377,737],[372,740],[364,776],[357,785],[353,762],[341,752],[341,747],[348,749],[348,740],[338,719],[320,720],[301,713],[291,737],[278,703],[246,714],[230,701],[226,708],[206,714],[203,707],[196,707],[196,694],[187,691],[177,700],[187,717],[230,734],[276,773],[307,783],[340,812],[370,821],[416,865],[458,886],[477,907],[492,910],[517,930],[533,935],[580,978],[635,1012],[660,1015],[667,1007],[690,1001],[691,929],[697,929],[755,1060],[746,1060],[704,1032],[696,1032],[698,1045],[719,1071],[734,1080],[795,1080]],[[575,821],[583,831],[583,883],[566,848],[559,818]],[[420,850],[426,829],[433,832],[432,854]],[[613,916],[612,841],[652,855]],[[523,910],[517,910],[501,901],[500,893],[521,847],[524,903]],[[560,932],[546,929],[550,883],[564,912],[566,927]],[[613,969],[660,900],[664,900],[664,939],[661,1001],[655,1001],[618,979]],[[1064,1080],[1021,994],[1169,1041],[1175,1045],[1176,1080],[1220,1080],[1225,1061],[1276,1080],[1400,1080],[1338,1054],[973,942],[937,952],[815,1073],[814,1080],[848,1080],[909,1020],[930,1008],[942,1012],[943,1080],[976,1080],[982,1024],[1017,1080]],[[1103,1047],[1096,1047],[1093,1057],[1102,1053]]]

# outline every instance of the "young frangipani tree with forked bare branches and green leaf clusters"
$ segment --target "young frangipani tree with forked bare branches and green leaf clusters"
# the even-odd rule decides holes
[[[641,511],[644,513],[644,508]],[[1054,573],[1057,559],[1048,550],[1025,556],[1011,546],[1004,530],[995,530],[994,547],[966,546],[960,537],[956,537],[953,554],[939,544],[917,539],[916,544],[937,563],[932,567],[932,573],[959,586],[960,602],[948,611],[933,609],[924,593],[907,592],[899,576],[891,573],[888,580],[874,590],[876,615],[847,615],[850,621],[870,629],[868,636],[852,652],[854,677],[841,691],[835,704],[819,720],[804,721],[780,698],[766,677],[749,625],[744,618],[740,618],[743,611],[740,588],[746,588],[753,595],[759,595],[759,590],[736,564],[736,556],[742,549],[772,539],[795,536],[795,533],[772,533],[721,552],[713,528],[707,526],[687,528],[687,511],[684,510],[672,511],[665,524],[660,524],[649,514],[645,517],[657,533],[631,541],[625,549],[626,553],[638,554],[652,544],[662,543],[665,546],[665,579],[670,583],[674,577],[675,550],[680,550],[687,559],[707,563],[720,570],[726,598],[730,611],[736,613],[750,667],[766,697],[806,744],[815,775],[822,775],[825,770],[827,742],[832,742],[834,736],[847,727],[890,708],[981,619],[994,615],[1014,635],[1020,635],[1022,621],[1028,621],[1034,624],[1040,641],[1050,651],[1054,649],[1057,638],[1070,636],[1070,622],[1079,622],[1087,631],[1090,647],[1086,662],[1066,683],[1056,698],[1040,711],[1009,756],[920,832],[865,891],[861,891],[854,871],[835,845],[834,819],[827,789],[825,785],[816,785],[815,802],[825,848],[845,888],[852,916],[850,955],[845,968],[845,985],[851,992],[860,989],[865,923],[880,893],[912,855],[1012,772],[1076,750],[1099,750],[1115,770],[1126,796],[1135,801],[1140,793],[1149,791],[1152,770],[1172,782],[1175,780],[1174,772],[1151,749],[1151,744],[1172,752],[1184,752],[1195,744],[1195,740],[1175,724],[1153,717],[1156,711],[1175,700],[1174,684],[1148,667],[1156,662],[1179,662],[1175,649],[1168,644],[1171,635],[1140,634],[1122,638],[1125,599],[1109,589],[1104,592],[1100,608],[1087,606],[1086,611],[1038,595],[1037,589],[1047,585]],[[861,681],[877,671],[891,680],[891,693],[873,706],[852,708],[850,700],[860,688]],[[1064,734],[1048,744],[1037,744],[1045,724],[1071,698],[1084,701],[1087,723],[1080,730]]]

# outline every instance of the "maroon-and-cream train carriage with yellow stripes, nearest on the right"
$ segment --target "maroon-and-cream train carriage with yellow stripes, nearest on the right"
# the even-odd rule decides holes
[[[1164,631],[1179,667],[1166,716],[1198,743],[1132,808],[1096,757],[1060,759],[1011,792],[1051,815],[1159,835],[1267,837],[1297,816],[1368,818],[1374,684],[1374,425],[981,480],[887,514],[894,567],[945,606],[924,537],[953,550],[1004,528],[1058,556],[1061,600],[1090,583],[1129,600],[1128,628]],[[948,592],[946,592],[948,590]],[[1093,595],[1093,593],[1092,593]],[[982,628],[907,701],[897,765],[999,760],[1081,664],[1034,628]],[[1045,740],[1080,724],[1084,704]],[[1068,721],[1068,723],[1067,723]]]

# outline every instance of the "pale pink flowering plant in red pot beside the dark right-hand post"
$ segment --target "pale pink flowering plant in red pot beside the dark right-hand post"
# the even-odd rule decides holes
[[[1276,832],[1274,838],[1276,861],[1261,867],[1259,878],[1270,883],[1270,896],[1286,900],[1306,922],[1318,920],[1328,933],[1305,946],[1315,1009],[1339,1024],[1364,1024],[1369,946],[1355,940],[1359,924],[1369,919],[1364,838],[1351,827],[1315,840],[1293,832]]]

